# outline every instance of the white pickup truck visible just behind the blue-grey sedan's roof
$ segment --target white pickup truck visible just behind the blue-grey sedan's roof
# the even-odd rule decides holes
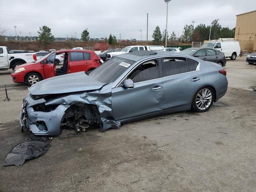
[[[164,46],[155,46],[155,45],[150,45],[150,46],[128,46],[123,48],[120,52],[111,52],[107,54],[107,60],[111,59],[114,56],[124,54],[124,53],[129,53],[133,51],[139,51],[139,50],[148,50],[148,51],[165,51]]]

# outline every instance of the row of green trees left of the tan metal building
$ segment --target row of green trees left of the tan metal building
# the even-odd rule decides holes
[[[211,28],[212,26],[212,28]],[[180,41],[180,42],[192,42],[192,41],[204,41],[218,39],[218,38],[234,38],[236,28],[222,27],[218,20],[214,20],[211,26],[206,26],[205,24],[199,24],[195,28],[192,24],[186,24],[183,28],[183,33],[178,37],[174,31],[169,36],[167,35],[167,40],[170,41]],[[210,34],[211,31],[211,34]],[[168,34],[168,33],[167,33]],[[159,43],[160,41],[165,41],[166,30],[162,33],[159,26],[156,26],[154,33],[152,35],[153,41]]]

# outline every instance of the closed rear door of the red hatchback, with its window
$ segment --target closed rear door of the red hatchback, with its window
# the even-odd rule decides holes
[[[75,73],[80,71],[87,72],[91,65],[90,53],[85,53],[85,57],[86,60],[84,60],[84,52],[70,52],[68,73]]]

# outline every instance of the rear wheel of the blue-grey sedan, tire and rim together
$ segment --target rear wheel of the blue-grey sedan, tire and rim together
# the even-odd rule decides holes
[[[210,86],[205,86],[200,88],[194,95],[191,108],[198,113],[206,112],[211,108],[213,102],[214,90]]]

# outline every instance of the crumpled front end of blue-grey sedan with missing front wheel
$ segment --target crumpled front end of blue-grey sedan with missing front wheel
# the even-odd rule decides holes
[[[85,129],[90,124],[100,126],[103,132],[119,128],[113,118],[111,105],[112,84],[100,90],[51,94],[24,98],[20,114],[22,130],[28,128],[35,135],[59,135],[60,128]]]

